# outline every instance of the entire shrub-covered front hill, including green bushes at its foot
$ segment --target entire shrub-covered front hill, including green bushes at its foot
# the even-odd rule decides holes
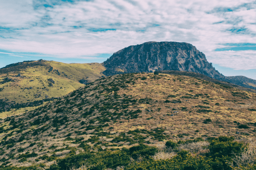
[[[1,168],[253,168],[242,160],[255,142],[242,139],[256,136],[255,99],[185,76],[101,78],[0,120]]]

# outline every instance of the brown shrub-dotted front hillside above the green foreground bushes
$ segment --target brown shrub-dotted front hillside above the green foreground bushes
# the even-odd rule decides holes
[[[256,93],[181,75],[97,79],[45,106],[1,120],[3,166],[45,164],[84,150],[167,140],[256,136]],[[73,159],[73,158],[72,158]]]

